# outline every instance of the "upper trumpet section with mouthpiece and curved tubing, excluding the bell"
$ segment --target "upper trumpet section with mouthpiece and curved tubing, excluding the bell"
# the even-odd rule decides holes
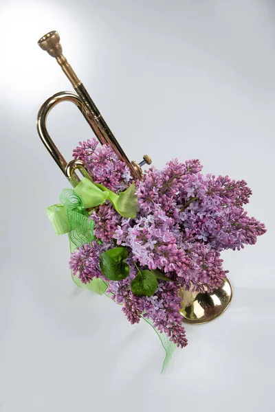
[[[46,127],[47,115],[50,113],[52,108],[54,108],[56,104],[66,101],[76,104],[80,112],[85,117],[89,126],[91,126],[91,129],[94,131],[94,134],[96,135],[100,143],[111,146],[115,154],[118,155],[118,158],[126,163],[133,178],[135,180],[141,179],[142,165],[151,164],[150,157],[148,157],[148,155],[144,155],[143,160],[140,163],[137,163],[136,161],[129,161],[124,150],[118,143],[117,139],[115,139],[115,136],[111,132],[109,126],[100,114],[100,111],[96,107],[96,104],[94,104],[93,100],[91,100],[91,96],[85,89],[83,82],[81,82],[78,76],[76,76],[74,69],[67,61],[67,58],[65,58],[65,56],[63,55],[63,49],[60,43],[60,36],[58,32],[52,31],[45,34],[45,36],[39,39],[38,44],[41,49],[45,50],[48,54],[50,54],[50,56],[56,58],[58,65],[61,66],[61,69],[63,70],[69,81],[72,83],[72,87],[74,87],[74,90],[76,91],[76,93],[72,93],[70,91],[61,91],[54,94],[41,106],[37,117],[37,130],[39,136],[41,137],[41,140],[43,141],[43,144],[45,145],[47,150],[50,152],[50,155],[52,155],[54,161],[56,161],[58,167],[62,170],[70,183],[72,183],[72,185],[76,185],[79,179],[74,172],[76,168],[80,169],[81,172],[81,170],[85,168],[85,165],[79,161],[78,163],[74,161],[67,163],[63,155],[61,155],[61,152],[54,144],[54,141],[52,141],[49,133],[47,133]]]

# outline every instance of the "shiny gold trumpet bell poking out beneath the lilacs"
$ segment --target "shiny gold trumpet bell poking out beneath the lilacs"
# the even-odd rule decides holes
[[[199,325],[216,319],[228,308],[232,299],[232,286],[225,278],[221,288],[211,293],[190,293],[181,288],[180,296],[182,321]]]

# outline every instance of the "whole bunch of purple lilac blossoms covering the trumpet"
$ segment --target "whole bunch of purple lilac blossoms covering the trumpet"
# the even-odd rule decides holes
[[[97,146],[96,139],[80,143],[74,157],[87,163],[96,183],[120,192],[133,179],[128,168],[111,148]],[[181,325],[179,288],[204,291],[219,288],[228,271],[223,270],[221,251],[254,244],[265,233],[265,226],[249,218],[243,205],[252,194],[245,181],[228,176],[201,174],[199,160],[169,161],[163,170],[151,168],[142,181],[136,181],[136,218],[122,218],[110,203],[91,213],[96,241],[72,253],[70,267],[83,283],[100,272],[103,250],[122,245],[128,250],[130,275],[109,281],[107,292],[118,303],[131,323],[143,315],[153,321],[176,345],[187,344]],[[157,269],[171,282],[159,281],[151,297],[133,295],[130,284],[137,269]],[[105,279],[104,279],[105,280]]]

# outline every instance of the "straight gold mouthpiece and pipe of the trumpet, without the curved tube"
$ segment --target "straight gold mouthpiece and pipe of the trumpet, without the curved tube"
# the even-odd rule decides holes
[[[69,65],[67,59],[65,58],[65,56],[63,56],[63,49],[60,43],[60,36],[58,32],[52,31],[45,34],[45,36],[41,37],[38,43],[41,49],[49,53],[50,56],[56,58],[58,65],[61,66],[61,69],[63,69],[65,75],[72,83],[74,90],[76,91],[83,104],[82,112],[83,114],[85,112],[86,119],[87,117],[89,117],[89,124],[91,128],[93,128],[94,133],[96,134],[96,137],[98,137],[100,143],[108,144],[109,146],[111,146],[116,155],[118,155],[119,159],[124,161],[124,163],[126,163],[126,165],[129,167],[133,178],[135,180],[141,179],[142,170],[140,166],[135,167],[135,165],[133,165],[131,161],[129,161],[124,150],[122,150],[122,147],[120,146],[120,144],[118,144],[118,141],[115,139],[115,136],[109,129],[109,126],[104,121],[102,115],[100,114],[100,111],[98,111],[96,104],[94,104],[93,100],[91,100],[91,97],[85,89],[83,83],[78,79],[78,76],[76,76],[76,73],[72,69],[72,66]],[[46,137],[46,139],[48,139],[48,137]],[[56,157],[54,157],[54,159],[55,158]],[[59,155],[58,158],[60,159]]]

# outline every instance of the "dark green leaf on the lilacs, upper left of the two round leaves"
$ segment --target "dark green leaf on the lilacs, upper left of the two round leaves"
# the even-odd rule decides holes
[[[129,264],[125,259],[128,251],[125,247],[115,247],[100,255],[100,269],[105,277],[110,280],[122,280],[129,275]]]

